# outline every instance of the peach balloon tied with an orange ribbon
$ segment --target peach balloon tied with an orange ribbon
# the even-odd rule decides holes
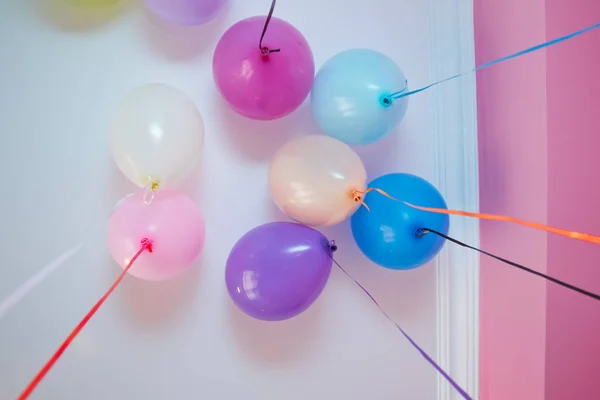
[[[366,186],[367,172],[358,154],[330,136],[304,136],[285,144],[269,167],[273,201],[304,225],[342,222],[360,206],[352,192]]]

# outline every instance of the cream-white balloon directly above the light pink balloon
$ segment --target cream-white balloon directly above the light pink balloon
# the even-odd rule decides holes
[[[188,175],[202,158],[204,124],[181,90],[149,84],[131,91],[110,125],[110,149],[121,172],[143,187],[169,186]]]

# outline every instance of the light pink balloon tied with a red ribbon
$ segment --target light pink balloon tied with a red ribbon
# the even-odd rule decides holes
[[[144,203],[144,190],[126,198],[108,225],[108,247],[122,268],[140,249],[142,239],[153,242],[152,253],[142,253],[129,270],[150,281],[170,279],[187,270],[198,258],[204,236],[198,206],[171,190],[158,190],[150,204]]]

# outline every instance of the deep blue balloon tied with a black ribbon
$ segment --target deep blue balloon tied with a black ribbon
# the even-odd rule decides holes
[[[438,190],[426,180],[411,174],[388,174],[369,184],[397,200],[434,208],[448,208]],[[417,236],[419,228],[446,235],[450,218],[417,210],[377,192],[365,197],[369,212],[361,207],[352,216],[352,234],[361,251],[376,264],[391,269],[412,269],[433,259],[445,239],[433,233]]]

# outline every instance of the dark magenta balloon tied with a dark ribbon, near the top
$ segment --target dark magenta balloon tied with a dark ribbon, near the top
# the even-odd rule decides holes
[[[219,91],[239,114],[258,120],[281,118],[302,104],[315,76],[308,42],[289,23],[272,18],[259,48],[266,17],[241,20],[225,32],[213,57]]]

